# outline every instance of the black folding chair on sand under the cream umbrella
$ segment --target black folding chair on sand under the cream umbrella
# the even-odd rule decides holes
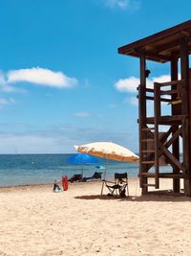
[[[117,196],[120,198],[129,197],[129,188],[128,188],[128,175],[127,173],[115,174],[115,181],[105,180],[105,186],[109,190],[108,196],[113,197]],[[127,195],[126,195],[127,193]]]

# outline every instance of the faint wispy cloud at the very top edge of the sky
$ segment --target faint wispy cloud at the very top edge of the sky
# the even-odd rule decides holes
[[[121,10],[138,10],[140,1],[138,0],[103,0],[109,8],[119,8]]]

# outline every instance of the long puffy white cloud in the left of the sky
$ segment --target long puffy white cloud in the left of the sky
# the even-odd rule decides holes
[[[50,69],[40,67],[11,70],[8,72],[8,83],[19,81],[27,81],[56,88],[73,87],[77,84],[75,78],[69,78],[62,72],[54,72]]]

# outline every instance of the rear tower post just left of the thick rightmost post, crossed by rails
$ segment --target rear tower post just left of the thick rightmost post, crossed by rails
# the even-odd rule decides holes
[[[178,58],[172,55],[171,60],[171,81],[178,81]],[[177,89],[177,85],[172,85],[172,90]],[[172,95],[172,101],[176,100],[177,95]],[[172,105],[172,115],[180,115],[180,105]],[[179,126],[172,126],[172,136],[179,129]],[[179,137],[172,144],[172,152],[174,156],[180,160],[180,140]],[[173,174],[180,174],[180,170],[177,166],[173,166]],[[180,178],[173,178],[173,192],[180,193]]]

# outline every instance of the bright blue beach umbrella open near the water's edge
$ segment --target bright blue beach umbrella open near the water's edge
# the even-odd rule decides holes
[[[87,153],[75,153],[71,157],[67,159],[67,163],[75,164],[75,165],[82,165],[82,177],[83,177],[83,166],[89,164],[97,164],[99,160]]]

